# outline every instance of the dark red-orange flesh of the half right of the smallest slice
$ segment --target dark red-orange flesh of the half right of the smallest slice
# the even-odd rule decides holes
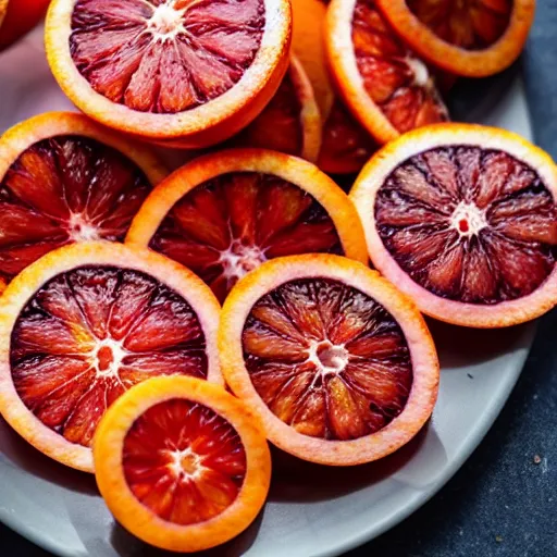
[[[263,401],[306,435],[369,435],[408,400],[403,331],[375,300],[337,281],[290,281],[265,295],[250,311],[243,346]]]

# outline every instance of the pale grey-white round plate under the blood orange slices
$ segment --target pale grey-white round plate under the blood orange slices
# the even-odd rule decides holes
[[[0,132],[33,114],[71,109],[45,61],[40,29],[0,57]],[[531,126],[520,79],[474,85],[458,99],[467,120]],[[460,114],[461,115],[461,114]],[[327,469],[276,455],[259,520],[214,555],[339,555],[401,521],[435,494],[481,442],[507,400],[534,326],[468,331],[432,323],[442,361],[433,420],[409,446],[381,462]],[[0,422],[0,520],[67,557],[159,555],[116,525],[94,479],[57,466]]]

